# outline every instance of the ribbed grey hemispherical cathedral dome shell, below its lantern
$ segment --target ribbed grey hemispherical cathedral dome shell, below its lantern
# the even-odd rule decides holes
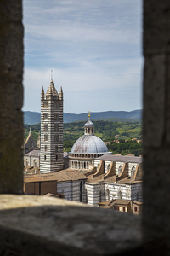
[[[105,154],[108,148],[105,143],[95,135],[83,135],[71,148],[71,154]]]

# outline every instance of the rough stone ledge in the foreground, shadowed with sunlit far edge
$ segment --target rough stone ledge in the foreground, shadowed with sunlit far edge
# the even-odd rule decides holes
[[[0,206],[1,255],[132,255],[142,244],[139,216],[29,195]]]

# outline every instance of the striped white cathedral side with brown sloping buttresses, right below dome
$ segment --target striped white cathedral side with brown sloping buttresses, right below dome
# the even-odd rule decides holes
[[[88,204],[112,199],[142,201],[142,157],[103,155],[93,160],[97,172],[85,184]]]

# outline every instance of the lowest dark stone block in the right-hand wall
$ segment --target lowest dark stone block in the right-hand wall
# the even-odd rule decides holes
[[[160,245],[166,238],[164,249],[170,244],[169,155],[170,148],[144,148],[144,241],[159,239]]]

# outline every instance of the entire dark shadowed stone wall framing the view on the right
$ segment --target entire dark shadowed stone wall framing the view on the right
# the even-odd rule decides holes
[[[144,241],[170,251],[170,2],[144,0]],[[160,250],[160,251],[159,251]],[[161,253],[162,255],[162,253]],[[165,255],[165,254],[163,254]]]

